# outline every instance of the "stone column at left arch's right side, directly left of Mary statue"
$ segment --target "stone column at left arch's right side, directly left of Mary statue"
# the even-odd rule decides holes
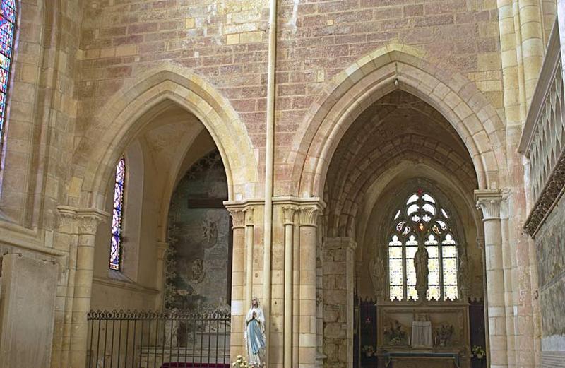
[[[237,355],[244,355],[244,245],[245,245],[245,213],[241,207],[228,207],[232,216],[233,249],[232,249],[232,330],[230,333],[231,361]]]

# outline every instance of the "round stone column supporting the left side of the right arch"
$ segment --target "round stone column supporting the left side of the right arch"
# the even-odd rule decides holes
[[[299,367],[316,365],[316,223],[319,207],[303,205],[300,215]]]

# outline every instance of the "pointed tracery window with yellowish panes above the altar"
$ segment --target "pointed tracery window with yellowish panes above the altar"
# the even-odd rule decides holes
[[[393,218],[388,242],[388,294],[391,300],[417,300],[414,256],[428,253],[428,300],[454,300],[458,294],[457,241],[447,210],[423,189],[408,196]]]

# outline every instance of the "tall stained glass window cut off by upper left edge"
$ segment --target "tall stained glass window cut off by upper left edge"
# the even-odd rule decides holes
[[[16,34],[15,0],[0,0],[0,146],[6,123],[6,102],[10,85],[13,42]]]

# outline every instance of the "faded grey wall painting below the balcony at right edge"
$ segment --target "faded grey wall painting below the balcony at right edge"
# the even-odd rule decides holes
[[[552,337],[551,350],[557,350],[556,337],[565,346],[565,196],[552,210],[535,237],[537,272],[540,280],[542,337]]]

